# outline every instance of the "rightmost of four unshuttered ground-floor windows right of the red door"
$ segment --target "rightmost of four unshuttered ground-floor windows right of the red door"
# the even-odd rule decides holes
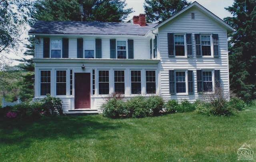
[[[156,93],[156,71],[146,71],[146,93]]]

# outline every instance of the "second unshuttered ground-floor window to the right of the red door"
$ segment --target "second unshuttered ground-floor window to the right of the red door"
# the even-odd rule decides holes
[[[124,94],[124,71],[123,70],[114,71],[114,86],[115,86],[115,93]]]

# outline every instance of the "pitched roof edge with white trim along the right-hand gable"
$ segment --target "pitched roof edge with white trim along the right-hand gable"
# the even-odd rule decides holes
[[[197,10],[199,10],[200,12],[202,12],[203,14],[209,16],[210,18],[212,18],[214,21],[216,21],[218,24],[220,24],[221,26],[223,26],[225,29],[227,29],[228,33],[234,31],[234,28],[231,27],[230,25],[228,25],[225,21],[223,21],[222,19],[220,19],[218,16],[214,15],[212,12],[210,12],[209,10],[207,10],[206,8],[204,8],[203,6],[201,6],[198,2],[193,2],[192,4],[190,4],[189,6],[187,6],[186,8],[184,8],[183,10],[181,10],[180,12],[174,14],[172,17],[170,17],[169,19],[163,21],[162,23],[160,23],[159,25],[156,25],[154,28],[158,29],[159,27],[165,25],[166,23],[168,23],[169,21],[172,21],[174,18],[176,18],[177,16],[179,16],[180,14],[186,12],[187,10],[189,10],[190,8],[196,8]]]

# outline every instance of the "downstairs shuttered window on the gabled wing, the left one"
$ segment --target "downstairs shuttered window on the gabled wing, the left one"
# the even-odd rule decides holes
[[[193,71],[169,70],[170,94],[194,93]]]

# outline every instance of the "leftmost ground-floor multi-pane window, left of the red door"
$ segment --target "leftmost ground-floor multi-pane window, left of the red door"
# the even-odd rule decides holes
[[[51,71],[42,70],[40,73],[40,95],[44,96],[51,93]]]

